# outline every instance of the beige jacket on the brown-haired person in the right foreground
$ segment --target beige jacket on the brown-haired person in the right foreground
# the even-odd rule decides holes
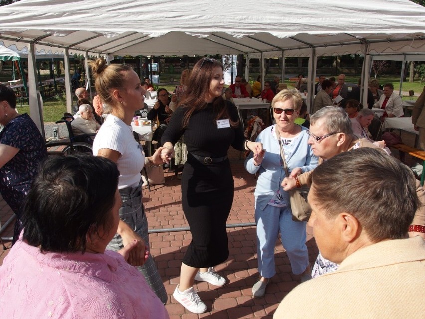
[[[382,241],[349,255],[337,271],[295,287],[274,319],[422,319],[425,241]]]

